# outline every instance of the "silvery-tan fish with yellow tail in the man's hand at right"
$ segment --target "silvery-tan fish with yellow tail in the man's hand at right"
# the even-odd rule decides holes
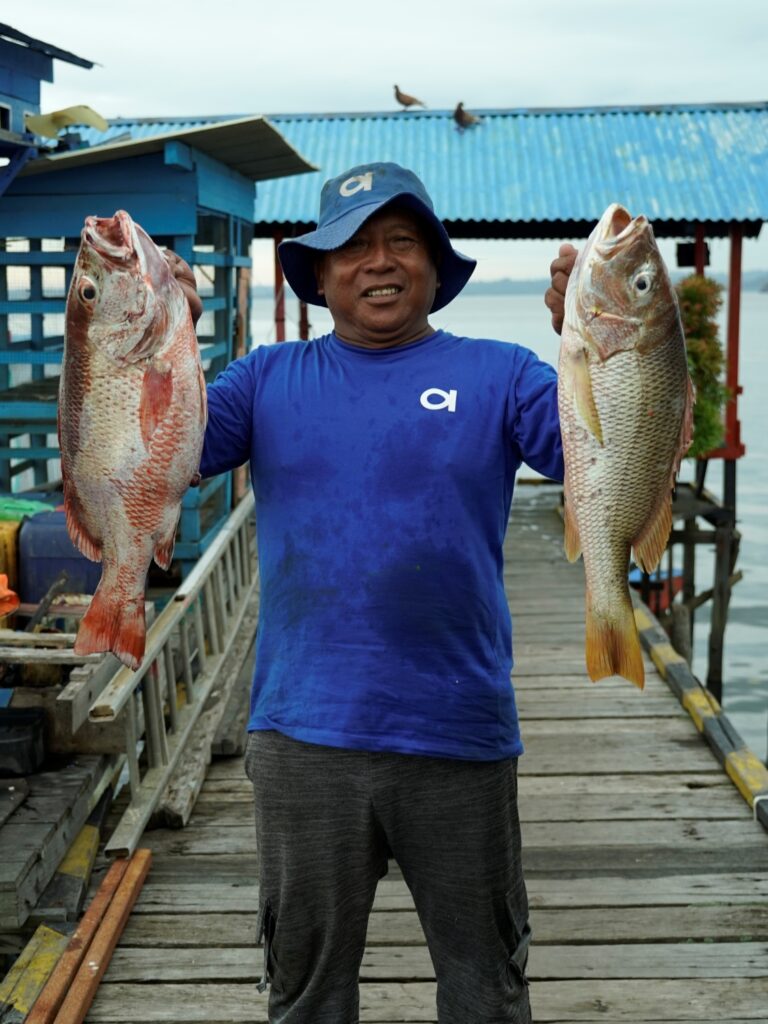
[[[693,387],[675,290],[645,217],[608,207],[565,293],[558,366],[565,553],[584,554],[587,670],[644,685],[630,550],[651,572],[693,432]]]

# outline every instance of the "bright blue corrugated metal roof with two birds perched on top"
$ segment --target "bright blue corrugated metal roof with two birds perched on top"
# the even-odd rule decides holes
[[[670,230],[768,220],[766,102],[473,113],[482,124],[464,132],[450,111],[268,115],[322,170],[261,182],[257,225],[312,223],[323,181],[376,160],[413,168],[454,233],[462,222],[489,236],[495,224],[546,233],[548,222],[594,221],[612,202]],[[214,120],[119,121],[110,132],[135,138]]]

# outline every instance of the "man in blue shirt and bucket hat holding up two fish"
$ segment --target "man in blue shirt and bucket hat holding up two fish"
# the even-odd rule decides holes
[[[521,462],[562,479],[556,375],[517,345],[430,327],[475,263],[395,164],[328,181],[317,229],[280,256],[335,330],[219,375],[201,465],[249,461],[256,496],[246,762],[269,1020],[358,1021],[369,913],[393,857],[440,1024],[528,1022],[502,544]],[[558,284],[553,264],[553,322]]]

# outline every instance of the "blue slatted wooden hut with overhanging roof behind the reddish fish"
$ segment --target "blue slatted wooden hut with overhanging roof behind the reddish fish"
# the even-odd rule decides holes
[[[254,182],[314,168],[263,118],[38,155],[0,197],[0,490],[53,487],[63,310],[84,218],[125,209],[195,268],[211,379],[250,347]],[[176,556],[191,563],[228,514],[231,479],[184,500]]]

